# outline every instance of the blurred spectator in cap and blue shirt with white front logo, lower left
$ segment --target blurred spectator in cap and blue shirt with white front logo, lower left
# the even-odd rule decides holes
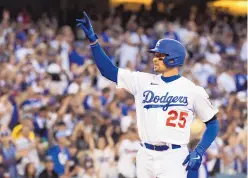
[[[71,159],[71,155],[68,149],[68,134],[65,131],[58,131],[55,134],[57,145],[54,145],[48,150],[48,155],[52,157],[54,163],[54,171],[62,176],[68,172],[68,162]]]

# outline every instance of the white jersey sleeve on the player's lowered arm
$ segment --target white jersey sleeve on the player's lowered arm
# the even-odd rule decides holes
[[[218,113],[218,109],[211,104],[207,92],[199,86],[195,91],[194,111],[203,122],[209,121]]]

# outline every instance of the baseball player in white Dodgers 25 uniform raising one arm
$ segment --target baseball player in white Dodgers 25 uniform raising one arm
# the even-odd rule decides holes
[[[138,178],[186,178],[187,170],[197,170],[202,156],[219,131],[218,109],[209,102],[202,87],[179,75],[186,56],[184,46],[161,39],[154,49],[154,71],[149,74],[116,67],[104,53],[90,19],[84,12],[77,19],[91,43],[101,74],[134,95],[141,147],[136,156]],[[189,153],[190,125],[195,115],[206,124],[196,148]]]

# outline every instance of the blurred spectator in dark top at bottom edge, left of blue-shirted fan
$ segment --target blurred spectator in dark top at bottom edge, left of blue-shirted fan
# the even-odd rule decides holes
[[[51,156],[46,156],[45,169],[40,173],[39,178],[59,178],[59,175],[54,171],[54,163]]]

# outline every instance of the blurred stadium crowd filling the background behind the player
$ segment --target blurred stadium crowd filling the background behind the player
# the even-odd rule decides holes
[[[103,78],[75,19],[86,11],[112,62],[153,73],[160,38],[187,48],[221,131],[188,178],[247,173],[247,1],[1,0],[0,178],[135,178],[134,98]],[[190,149],[205,129],[192,124]]]

